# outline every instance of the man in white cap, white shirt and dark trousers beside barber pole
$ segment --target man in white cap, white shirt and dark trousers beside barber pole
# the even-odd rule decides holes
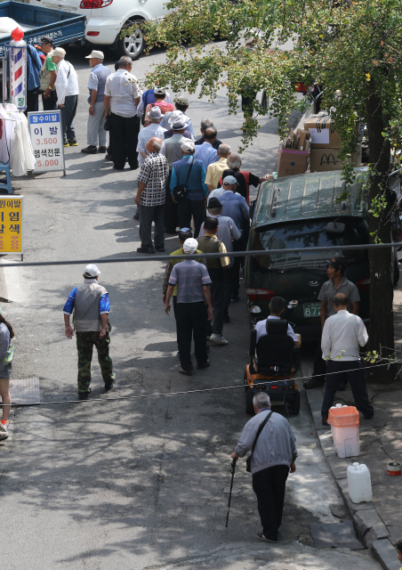
[[[56,87],[57,104],[61,110],[61,123],[63,126],[64,146],[78,146],[76,142],[76,130],[74,118],[78,105],[78,76],[65,58],[66,51],[62,47],[56,47],[52,52],[52,62],[57,66]]]

